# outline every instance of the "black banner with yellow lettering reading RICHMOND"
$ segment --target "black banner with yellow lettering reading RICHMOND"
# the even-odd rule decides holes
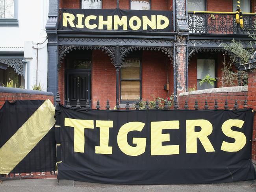
[[[62,9],[59,30],[171,32],[172,11]]]

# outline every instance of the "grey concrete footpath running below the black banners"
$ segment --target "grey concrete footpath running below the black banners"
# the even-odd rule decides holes
[[[0,183],[0,192],[256,192],[255,181],[200,185],[109,185],[58,179],[19,179]]]

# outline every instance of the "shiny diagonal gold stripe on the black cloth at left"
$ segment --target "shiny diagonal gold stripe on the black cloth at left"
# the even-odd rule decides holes
[[[46,100],[0,148],[0,174],[9,174],[55,124],[55,108]]]

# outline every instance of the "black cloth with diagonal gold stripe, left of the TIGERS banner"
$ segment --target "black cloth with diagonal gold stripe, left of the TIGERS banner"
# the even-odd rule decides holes
[[[55,170],[54,113],[50,100],[4,103],[0,109],[0,174]]]

